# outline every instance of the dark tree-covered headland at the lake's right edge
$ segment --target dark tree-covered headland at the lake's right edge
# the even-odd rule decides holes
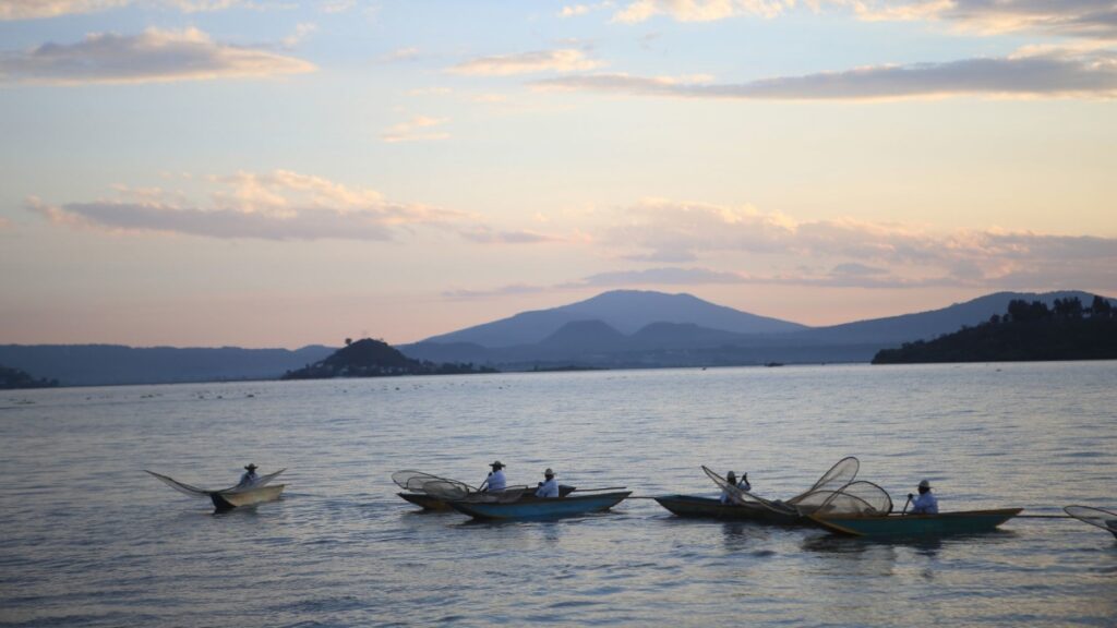
[[[1014,299],[1004,315],[964,326],[932,341],[885,349],[873,364],[922,362],[1029,362],[1117,359],[1117,316],[1113,304],[1095,296],[1089,307],[1075,298]]]

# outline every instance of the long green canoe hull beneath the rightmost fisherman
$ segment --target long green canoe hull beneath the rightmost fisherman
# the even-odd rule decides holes
[[[936,515],[842,516],[808,515],[836,534],[851,536],[945,536],[990,532],[1023,508],[960,511]]]

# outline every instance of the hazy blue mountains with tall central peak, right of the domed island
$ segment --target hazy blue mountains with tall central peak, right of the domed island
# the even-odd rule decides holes
[[[930,312],[808,327],[687,294],[617,291],[401,345],[422,360],[525,370],[868,362],[881,349],[976,325],[1012,299],[1053,303],[1085,292],[996,293]]]

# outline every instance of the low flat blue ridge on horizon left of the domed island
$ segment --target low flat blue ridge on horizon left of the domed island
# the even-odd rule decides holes
[[[0,364],[63,386],[276,379],[322,360],[328,346],[286,349],[132,348],[115,344],[0,345]]]

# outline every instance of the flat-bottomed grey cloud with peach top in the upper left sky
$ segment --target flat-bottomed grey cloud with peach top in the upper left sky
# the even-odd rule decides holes
[[[78,44],[0,56],[0,82],[48,85],[260,78],[315,69],[294,57],[217,44],[195,28],[94,34]]]

